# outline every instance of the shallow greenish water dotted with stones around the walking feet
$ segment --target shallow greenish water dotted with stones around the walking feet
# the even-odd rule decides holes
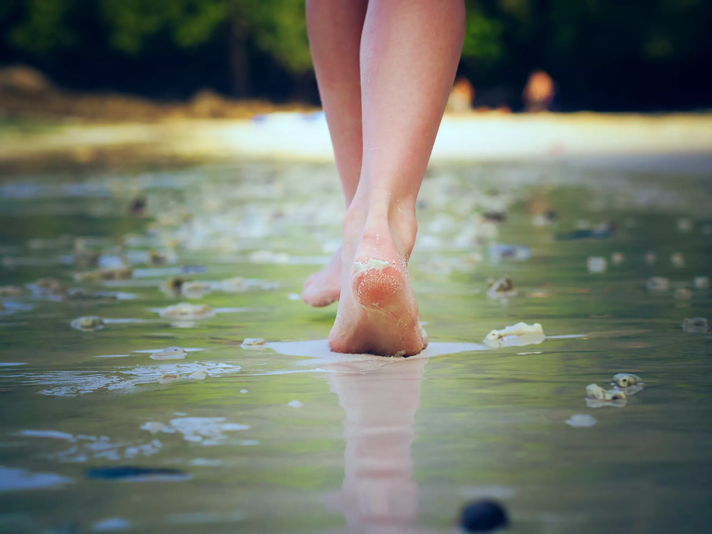
[[[446,532],[477,498],[503,503],[513,532],[703,531],[712,335],[681,323],[712,319],[710,290],[693,286],[712,274],[711,176],[431,169],[410,269],[432,345],[409,359],[330,354],[335,305],[294,297],[339,244],[331,166],[5,177],[0,285],[23,293],[0,312],[0,532]],[[145,216],[129,214],[137,195]],[[555,223],[534,224],[546,210]],[[609,221],[606,239],[555,238]],[[73,281],[90,270],[77,237],[133,278]],[[493,244],[528,249],[517,260]],[[175,263],[147,266],[151,248]],[[590,273],[590,256],[607,270]],[[181,273],[210,292],[161,290]],[[503,275],[516,295],[488,298]],[[103,294],[26,288],[46,276]],[[224,290],[236,276],[253,282]],[[671,288],[648,290],[651,276]],[[159,313],[180,302],[215,313]],[[85,315],[103,328],[70,327]],[[483,345],[519,321],[547,337]],[[184,357],[152,359],[169,346]],[[587,384],[617,372],[644,389],[587,406]],[[595,423],[567,424],[576,414]]]

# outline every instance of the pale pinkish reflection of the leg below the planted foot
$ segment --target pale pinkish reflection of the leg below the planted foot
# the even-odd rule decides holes
[[[410,446],[426,361],[393,362],[370,371],[362,369],[373,361],[340,364],[338,372],[329,375],[346,412],[339,508],[349,532],[413,532],[408,525],[415,518],[418,497]]]

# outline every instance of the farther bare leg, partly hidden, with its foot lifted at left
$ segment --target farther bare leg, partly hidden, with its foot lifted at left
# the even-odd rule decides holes
[[[306,10],[314,70],[347,207],[361,174],[359,48],[367,4],[367,0],[308,0]],[[302,293],[306,303],[320,307],[339,298],[341,253],[339,248],[327,268],[307,279]]]

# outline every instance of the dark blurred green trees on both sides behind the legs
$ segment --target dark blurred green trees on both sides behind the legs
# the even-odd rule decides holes
[[[165,65],[174,61],[180,66],[182,60],[172,59],[177,57],[200,56],[202,63],[215,65],[216,51],[222,49],[225,70],[233,71],[231,83],[241,88],[236,93],[250,93],[250,84],[261,83],[260,76],[271,76],[272,86],[284,85],[286,79],[298,85],[312,70],[304,3],[2,0],[0,63],[20,58],[52,71],[70,56],[72,61],[91,56],[90,68],[98,68],[102,61],[138,64],[151,57],[155,63],[149,61],[141,69],[155,73],[159,61]],[[605,98],[603,93],[612,85],[620,90],[617,98],[622,102],[642,101],[641,90],[649,91],[651,102],[655,98],[664,101],[663,93],[681,92],[674,78],[678,78],[677,85],[690,86],[684,88],[685,95],[680,93],[682,100],[710,100],[703,87],[709,76],[703,70],[706,72],[704,66],[712,61],[712,39],[708,36],[711,1],[465,3],[461,74],[477,88],[505,84],[517,88],[518,94],[530,71],[544,68],[565,86],[565,94],[578,95],[582,103]],[[98,59],[100,54],[104,54],[103,60]],[[157,58],[161,54],[162,59]],[[272,69],[266,62],[284,74],[264,75],[261,71]],[[58,75],[68,68],[56,68]],[[104,74],[105,83],[121,85],[112,82],[110,72]],[[114,75],[118,78],[120,72]],[[661,78],[669,80],[661,85]],[[164,85],[167,83],[165,80]],[[656,90],[660,95],[655,96]]]

